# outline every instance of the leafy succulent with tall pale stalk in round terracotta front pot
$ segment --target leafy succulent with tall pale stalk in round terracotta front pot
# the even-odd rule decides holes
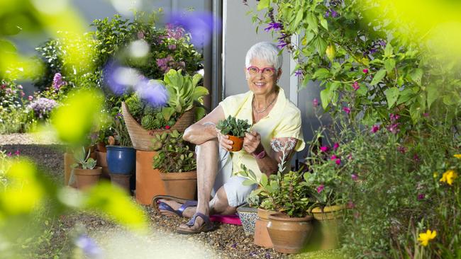
[[[282,151],[282,162],[279,163],[277,174],[269,178],[262,174],[258,179],[245,165],[242,165],[239,174],[247,178],[244,185],[259,186],[252,191],[250,199],[258,200],[260,204],[258,216],[268,218],[267,231],[274,249],[281,253],[299,253],[309,241],[313,230],[313,217],[308,212],[311,205],[309,184],[301,171],[283,173],[286,169],[286,151],[294,148],[294,142],[282,145],[274,140],[271,145],[274,150]]]

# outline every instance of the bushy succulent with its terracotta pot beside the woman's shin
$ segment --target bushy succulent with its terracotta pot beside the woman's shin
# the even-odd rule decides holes
[[[160,170],[166,194],[194,200],[197,190],[196,159],[189,143],[177,130],[157,134],[153,142],[159,148],[152,167]]]

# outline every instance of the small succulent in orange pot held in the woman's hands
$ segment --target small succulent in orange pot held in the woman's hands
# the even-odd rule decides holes
[[[245,132],[248,132],[250,125],[248,120],[240,120],[235,117],[228,116],[226,120],[220,120],[216,125],[221,134],[228,135],[229,139],[233,141],[232,148],[229,151],[240,151],[243,146],[243,137]]]

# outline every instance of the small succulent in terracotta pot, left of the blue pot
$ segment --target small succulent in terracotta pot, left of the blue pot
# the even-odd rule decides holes
[[[69,185],[73,185],[75,181],[77,183],[77,188],[86,189],[99,181],[102,168],[96,166],[96,160],[89,157],[90,154],[91,149],[87,152],[83,146],[81,151],[74,151],[74,159],[77,163],[72,164],[73,169]],[[72,176],[74,176],[74,178]]]

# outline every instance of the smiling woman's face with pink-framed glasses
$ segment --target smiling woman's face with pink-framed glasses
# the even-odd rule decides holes
[[[262,96],[267,96],[272,91],[274,91],[275,86],[277,85],[277,81],[280,78],[280,75],[282,74],[282,69],[279,69],[278,71],[269,64],[267,61],[264,59],[251,59],[250,62],[250,67],[257,67],[256,70],[257,72],[255,74],[250,74],[248,71],[248,67],[245,68],[245,75],[247,78],[247,83],[248,87],[250,90],[255,94],[255,95],[262,95]],[[263,69],[265,68],[272,68],[274,69],[274,74],[272,76],[267,75],[267,69],[266,72],[263,72]]]

